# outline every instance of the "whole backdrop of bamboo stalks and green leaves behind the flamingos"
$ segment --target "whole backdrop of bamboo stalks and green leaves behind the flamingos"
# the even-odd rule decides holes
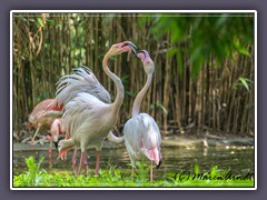
[[[254,98],[239,98],[253,97],[253,84],[238,78],[254,77],[254,19],[253,13],[50,13],[46,18],[40,13],[16,13],[13,130],[21,141],[21,124],[33,107],[55,98],[59,78],[80,64],[90,67],[115,96],[116,87],[102,71],[101,61],[112,43],[131,40],[148,50],[156,64],[151,98],[145,98],[142,104],[150,106],[149,112],[160,129],[170,121],[181,129],[191,119],[196,128],[205,123],[216,131],[249,134],[254,128]],[[145,83],[144,70],[123,67],[137,64],[141,63],[132,54],[109,59],[110,70],[118,72],[126,90],[120,123],[128,119],[138,92],[136,86]],[[198,77],[199,72],[202,76]],[[140,78],[132,79],[132,74]],[[196,78],[198,81],[194,81]],[[233,87],[238,88],[235,96]],[[207,92],[215,88],[221,98],[207,99]],[[217,102],[222,100],[229,107],[220,112],[216,106],[225,103]],[[231,114],[234,108],[239,109]]]

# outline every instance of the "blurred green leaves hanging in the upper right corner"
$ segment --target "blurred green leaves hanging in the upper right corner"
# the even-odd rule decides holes
[[[210,56],[220,67],[233,53],[250,57],[247,47],[254,43],[254,16],[247,13],[162,13],[140,18],[139,23],[149,26],[156,41],[170,37],[167,56],[177,58],[180,76],[181,52],[190,54],[194,79]]]

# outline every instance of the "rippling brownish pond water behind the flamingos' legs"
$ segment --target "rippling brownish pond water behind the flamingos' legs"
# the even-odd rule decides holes
[[[72,152],[68,153],[67,160],[57,160],[57,150],[52,151],[53,163],[52,170],[72,172],[71,157]],[[89,149],[88,164],[90,173],[93,173],[96,164],[96,151]],[[199,166],[200,172],[207,172],[212,167],[217,166],[221,170],[230,170],[235,174],[246,174],[254,172],[254,147],[249,146],[220,146],[220,147],[192,147],[192,148],[178,148],[178,147],[164,147],[161,149],[162,163],[159,169],[155,169],[155,177],[157,179],[165,178],[168,173],[176,173],[181,171],[195,172],[194,166]],[[13,151],[13,174],[24,171],[24,158],[33,156],[36,160],[44,157],[41,168],[49,171],[48,150],[46,148],[39,150],[20,150]],[[78,153],[79,163],[80,153]],[[121,170],[130,172],[130,162],[126,148],[109,148],[102,149],[100,158],[100,169],[109,169],[110,164],[116,166]],[[82,171],[83,172],[83,171]]]

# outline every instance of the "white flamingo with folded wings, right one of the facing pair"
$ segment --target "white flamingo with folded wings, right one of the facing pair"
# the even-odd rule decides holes
[[[152,82],[155,64],[146,50],[138,51],[137,57],[141,59],[148,79],[134,101],[131,119],[125,124],[125,144],[132,164],[131,179],[134,179],[134,164],[136,161],[147,157],[151,161],[150,181],[152,181],[152,161],[159,168],[162,159],[160,153],[161,136],[154,118],[147,113],[140,113],[140,104]]]

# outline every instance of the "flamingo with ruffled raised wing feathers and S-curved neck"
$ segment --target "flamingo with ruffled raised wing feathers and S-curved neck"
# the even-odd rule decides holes
[[[78,174],[80,174],[82,164],[86,174],[88,172],[86,149],[89,146],[95,147],[97,150],[95,172],[98,174],[103,140],[106,137],[116,139],[111,133],[111,129],[117,122],[119,110],[125,98],[125,90],[121,80],[109,70],[108,59],[111,56],[121,54],[122,52],[135,52],[135,48],[136,46],[130,41],[120,42],[113,44],[103,57],[103,71],[112,79],[117,89],[116,100],[112,103],[110,102],[110,96],[107,90],[98,82],[95,74],[88,68],[76,69],[75,74],[66,76],[59,81],[56,99],[59,106],[67,102],[62,118],[66,131],[69,132],[71,138],[60,141],[58,158],[63,159],[68,150],[72,147],[80,146],[81,158]],[[123,138],[121,141],[123,141]],[[73,158],[75,157],[76,151]],[[73,158],[72,166],[76,169]]]

